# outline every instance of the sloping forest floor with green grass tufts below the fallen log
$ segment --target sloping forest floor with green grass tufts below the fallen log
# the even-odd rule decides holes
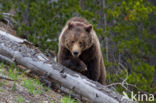
[[[0,103],[67,103],[64,98],[15,66],[0,64]]]

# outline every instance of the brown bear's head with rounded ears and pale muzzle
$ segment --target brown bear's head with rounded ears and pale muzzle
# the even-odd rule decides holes
[[[65,47],[74,57],[79,57],[81,53],[92,46],[93,28],[91,24],[69,22],[65,33]]]

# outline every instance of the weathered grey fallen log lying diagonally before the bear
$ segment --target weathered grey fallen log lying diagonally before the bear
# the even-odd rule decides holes
[[[49,60],[27,40],[0,30],[0,59],[23,65],[39,74],[54,79],[64,87],[88,98],[93,103],[136,103],[54,60]]]

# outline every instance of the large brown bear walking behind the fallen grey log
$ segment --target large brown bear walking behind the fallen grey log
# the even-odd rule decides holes
[[[106,70],[99,39],[84,18],[73,17],[63,28],[59,36],[58,62],[105,84]]]

